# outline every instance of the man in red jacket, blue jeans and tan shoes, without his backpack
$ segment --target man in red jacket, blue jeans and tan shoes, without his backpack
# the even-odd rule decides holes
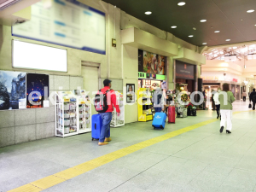
[[[107,145],[108,142],[111,142],[110,138],[110,122],[112,119],[112,112],[113,107],[116,109],[116,112],[118,113],[118,116],[120,114],[119,105],[117,103],[116,95],[114,90],[111,90],[111,80],[105,79],[103,81],[104,88],[101,90],[102,93],[107,93],[107,100],[108,100],[108,110],[105,113],[100,113],[102,117],[102,131],[101,136],[99,139],[99,145]]]

